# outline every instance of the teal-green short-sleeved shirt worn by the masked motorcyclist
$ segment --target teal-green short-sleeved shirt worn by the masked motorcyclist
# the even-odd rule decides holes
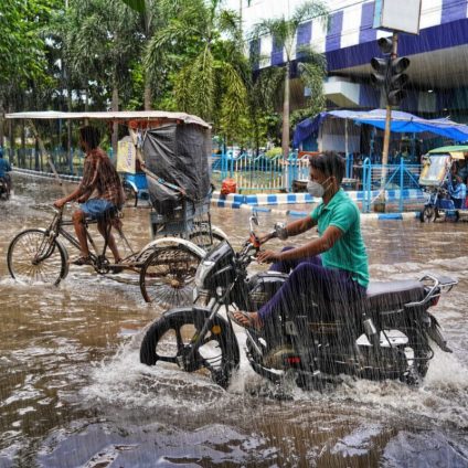
[[[361,235],[359,209],[348,194],[340,189],[328,204],[320,203],[310,214],[317,221],[321,236],[328,226],[337,226],[343,235],[327,252],[321,254],[322,264],[352,273],[361,286],[369,284],[368,254]]]

